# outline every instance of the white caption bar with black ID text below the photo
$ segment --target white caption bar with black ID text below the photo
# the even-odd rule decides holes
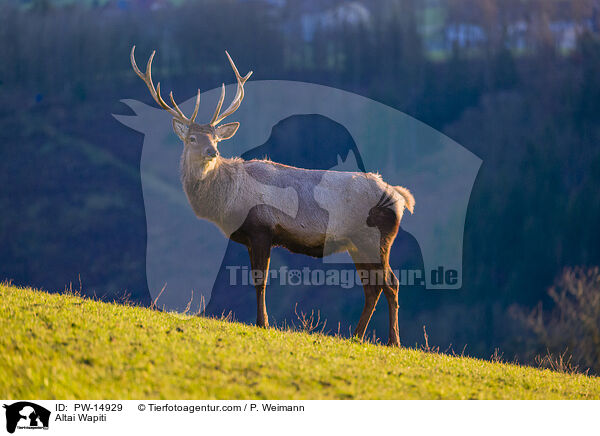
[[[0,434],[578,434],[597,401],[0,400]],[[126,433],[127,432],[127,433]],[[110,433],[109,433],[110,434]]]

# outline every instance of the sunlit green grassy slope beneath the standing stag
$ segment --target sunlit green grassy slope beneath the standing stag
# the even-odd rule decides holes
[[[600,398],[600,379],[0,285],[2,398]]]

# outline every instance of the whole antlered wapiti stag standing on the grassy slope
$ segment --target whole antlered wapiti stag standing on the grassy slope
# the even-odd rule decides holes
[[[152,52],[146,72],[137,67],[131,49],[131,65],[146,83],[150,94],[173,116],[173,130],[183,142],[181,181],[190,205],[199,218],[216,224],[230,239],[248,248],[256,287],[256,324],[268,327],[265,287],[271,247],[282,246],[295,253],[323,257],[347,251],[352,257],[365,291],[365,305],[354,331],[362,339],[377,300],[383,291],[389,306],[389,345],[400,345],[398,331],[398,279],[389,265],[404,209],[411,213],[414,198],[408,189],[385,183],[378,174],[295,168],[269,160],[245,161],[224,158],[219,141],[231,138],[238,122],[220,124],[232,115],[244,98],[244,83],[233,60],[237,92],[221,113],[225,85],[214,115],[207,124],[195,122],[200,90],[192,115],[186,117],[173,93],[167,104],[160,83],[152,82]],[[275,207],[265,201],[271,188],[293,188],[295,207]]]

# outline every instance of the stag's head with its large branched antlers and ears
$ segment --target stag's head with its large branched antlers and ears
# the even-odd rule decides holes
[[[134,53],[135,45],[131,48],[130,55],[133,71],[135,71],[135,73],[144,81],[150,90],[150,94],[152,95],[152,98],[154,98],[154,101],[156,101],[156,103],[158,103],[158,105],[164,110],[173,115],[173,130],[183,142],[184,153],[187,153],[191,160],[198,162],[202,166],[210,165],[212,160],[219,155],[219,151],[217,149],[218,142],[231,138],[233,135],[235,135],[235,132],[240,126],[240,123],[238,122],[221,125],[218,124],[229,115],[233,114],[240,107],[240,104],[244,99],[244,83],[246,83],[246,81],[250,78],[252,71],[246,74],[245,77],[242,77],[238,72],[233,60],[231,59],[231,56],[229,56],[229,53],[225,51],[227,59],[229,59],[229,63],[231,64],[231,68],[233,68],[233,72],[235,73],[235,77],[237,79],[237,91],[235,93],[235,97],[225,112],[221,113],[221,106],[223,105],[223,100],[225,99],[225,84],[223,83],[221,85],[221,96],[211,120],[207,124],[198,124],[195,122],[195,119],[198,115],[198,108],[200,107],[200,90],[198,90],[198,94],[196,96],[194,112],[188,118],[183,114],[181,109],[179,109],[177,103],[175,103],[172,91],[169,93],[169,98],[173,107],[169,106],[161,97],[160,82],[156,84],[156,88],[152,83],[152,60],[154,59],[156,50],[152,52],[150,58],[148,59],[145,73],[142,73],[138,68],[135,62]]]

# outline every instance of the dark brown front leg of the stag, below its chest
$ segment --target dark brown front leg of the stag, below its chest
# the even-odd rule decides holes
[[[252,238],[248,246],[248,253],[252,267],[250,278],[256,288],[256,325],[266,328],[269,327],[269,316],[267,315],[265,288],[271,259],[271,238],[262,235]]]

